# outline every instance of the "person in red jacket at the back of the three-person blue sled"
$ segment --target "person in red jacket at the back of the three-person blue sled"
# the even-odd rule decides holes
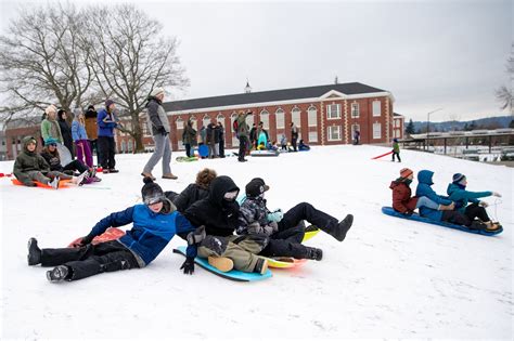
[[[393,208],[395,211],[411,215],[416,208],[422,206],[438,211],[451,211],[455,208],[453,202],[450,205],[441,205],[431,200],[428,197],[411,197],[410,184],[413,179],[414,173],[412,170],[403,168],[400,170],[400,178],[390,183],[389,188],[393,189]]]

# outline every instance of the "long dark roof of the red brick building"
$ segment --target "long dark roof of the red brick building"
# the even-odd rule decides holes
[[[261,92],[250,93],[239,93],[231,95],[222,95],[215,97],[203,97],[184,101],[174,101],[164,103],[164,109],[166,112],[182,112],[192,110],[200,108],[211,108],[222,107],[230,105],[244,105],[253,103],[267,103],[267,102],[279,102],[279,101],[291,101],[301,99],[316,99],[327,93],[331,90],[337,92],[354,95],[354,94],[365,94],[375,92],[386,92],[385,90],[373,88],[359,82],[342,83],[342,84],[329,84],[307,88],[295,88],[295,89],[281,89],[270,90]]]

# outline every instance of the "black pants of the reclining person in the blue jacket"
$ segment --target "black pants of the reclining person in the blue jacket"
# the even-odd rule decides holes
[[[130,250],[117,240],[81,248],[42,249],[41,266],[66,265],[68,280],[82,279],[104,272],[139,267]]]

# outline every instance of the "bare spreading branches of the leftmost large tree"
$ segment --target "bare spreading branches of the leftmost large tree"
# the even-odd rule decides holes
[[[88,97],[94,80],[81,44],[81,15],[72,4],[20,8],[0,37],[0,119],[39,118],[49,104],[69,112]]]

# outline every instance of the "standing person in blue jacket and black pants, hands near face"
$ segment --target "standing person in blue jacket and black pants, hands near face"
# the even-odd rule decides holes
[[[105,108],[101,109],[97,117],[98,124],[98,147],[99,161],[103,168],[103,173],[117,173],[115,169],[116,160],[114,155],[116,153],[116,142],[114,141],[114,128],[116,128],[116,116],[114,109],[116,104],[113,100],[105,101]]]

